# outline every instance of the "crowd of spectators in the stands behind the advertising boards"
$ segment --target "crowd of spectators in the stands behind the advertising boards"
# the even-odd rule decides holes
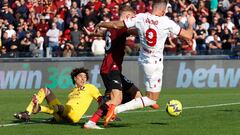
[[[0,57],[75,57],[104,54],[103,38],[87,36],[101,21],[117,20],[119,8],[151,12],[152,0],[1,0]],[[196,18],[194,39],[170,34],[165,55],[240,55],[240,0],[169,0],[167,16],[187,28]],[[126,53],[137,55],[129,36]]]

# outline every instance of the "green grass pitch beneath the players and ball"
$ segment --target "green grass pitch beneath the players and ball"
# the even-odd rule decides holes
[[[82,129],[87,118],[78,125],[50,124],[41,122],[49,115],[32,117],[33,123],[16,123],[15,112],[23,111],[36,91],[0,91],[1,135],[239,135],[239,89],[163,89],[158,103],[159,110],[139,109],[119,114],[122,121],[112,122],[104,130]],[[54,91],[62,103],[67,90]],[[180,117],[170,117],[165,112],[169,99],[178,99],[184,109]],[[96,110],[94,103],[86,115]],[[10,124],[10,125],[8,125]],[[102,126],[102,121],[99,123]],[[8,126],[7,126],[8,125]]]

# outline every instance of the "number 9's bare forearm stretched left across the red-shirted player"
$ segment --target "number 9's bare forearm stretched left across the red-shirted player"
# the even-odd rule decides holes
[[[110,21],[110,22],[100,22],[96,25],[97,28],[110,28],[110,29],[122,29],[125,28],[123,21]]]

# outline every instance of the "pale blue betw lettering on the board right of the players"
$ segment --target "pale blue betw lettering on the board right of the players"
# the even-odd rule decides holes
[[[210,68],[191,69],[186,62],[181,62],[176,87],[237,87],[239,82],[240,68],[220,68],[213,64]]]

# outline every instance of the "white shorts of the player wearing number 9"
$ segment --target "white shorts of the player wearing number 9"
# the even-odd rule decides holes
[[[163,59],[139,60],[139,65],[144,73],[146,91],[160,92],[162,89]]]

